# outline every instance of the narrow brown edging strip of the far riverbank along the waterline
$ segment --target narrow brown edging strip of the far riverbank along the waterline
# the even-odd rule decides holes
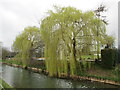
[[[19,67],[19,68],[23,68],[23,69],[27,69],[36,73],[44,73],[45,75],[48,75],[48,71],[46,71],[45,69],[41,69],[41,68],[36,68],[36,67],[23,67],[22,65],[17,65],[17,64],[11,64],[11,63],[6,63],[6,62],[2,62],[3,64],[7,64],[13,67]],[[55,76],[56,77],[56,76]],[[107,83],[107,84],[112,84],[112,85],[118,85],[120,86],[120,82],[118,82],[117,80],[111,79],[111,78],[107,78],[107,77],[100,77],[100,76],[95,76],[95,75],[85,75],[82,74],[80,76],[76,76],[76,75],[66,75],[64,73],[61,74],[61,77],[57,77],[57,78],[62,78],[62,79],[72,79],[72,80],[89,80],[89,81],[95,81],[95,82],[102,82],[102,83]]]

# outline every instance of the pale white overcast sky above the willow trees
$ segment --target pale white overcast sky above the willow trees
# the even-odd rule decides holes
[[[39,27],[39,21],[45,17],[53,5],[72,6],[82,11],[95,10],[104,4],[108,11],[109,25],[107,33],[118,36],[118,1],[119,0],[0,0],[0,41],[11,48],[15,37],[27,26]]]

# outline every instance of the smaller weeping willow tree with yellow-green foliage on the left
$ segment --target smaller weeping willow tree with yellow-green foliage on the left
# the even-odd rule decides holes
[[[23,66],[28,66],[32,59],[33,52],[41,45],[40,31],[37,27],[27,27],[18,35],[13,43],[13,49],[18,52],[16,55]]]

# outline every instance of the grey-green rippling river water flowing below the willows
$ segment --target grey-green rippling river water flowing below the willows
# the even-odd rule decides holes
[[[14,88],[117,88],[118,86],[91,82],[50,78],[25,69],[0,65],[2,79]]]

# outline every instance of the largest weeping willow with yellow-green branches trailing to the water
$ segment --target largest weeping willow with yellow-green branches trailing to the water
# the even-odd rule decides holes
[[[40,28],[45,43],[46,68],[50,76],[68,74],[69,71],[71,75],[77,74],[81,56],[94,56],[97,41],[104,44],[105,25],[93,11],[55,6],[55,10],[48,13]],[[96,37],[97,27],[101,34],[99,39]],[[81,60],[85,66],[85,60]]]

